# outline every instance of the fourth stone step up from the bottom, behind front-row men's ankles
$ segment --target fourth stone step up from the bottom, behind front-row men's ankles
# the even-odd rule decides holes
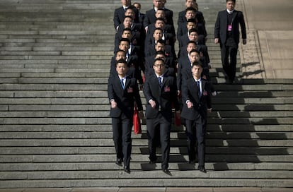
[[[147,145],[147,144],[146,144]],[[113,162],[116,155],[0,155],[3,163],[64,163],[64,162]],[[160,157],[160,156],[159,156]],[[207,155],[206,162],[289,162],[292,163],[293,155]],[[158,159],[159,160],[159,159]],[[160,160],[159,160],[160,161]],[[149,155],[133,155],[132,162],[144,162],[149,165]],[[170,162],[188,162],[188,155],[170,154]],[[154,166],[153,166],[154,167]],[[161,168],[161,167],[160,167]]]

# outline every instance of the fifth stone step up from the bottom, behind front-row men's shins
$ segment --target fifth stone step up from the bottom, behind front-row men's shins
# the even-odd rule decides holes
[[[113,153],[115,154],[115,148],[113,146],[110,147],[2,147],[0,149],[1,155],[97,155],[97,154],[109,154]],[[157,152],[161,154],[160,149],[157,149]],[[186,146],[183,147],[172,147],[170,149],[171,154],[182,154],[182,155],[188,155],[188,150]],[[213,147],[213,146],[207,146],[206,152],[209,155],[220,155],[220,154],[226,154],[226,155],[292,155],[293,154],[293,148],[292,147],[263,147],[263,148],[253,148],[253,147]],[[139,155],[144,154],[148,155],[148,149],[146,146],[134,146],[132,148],[132,155]],[[64,162],[65,164],[65,162]],[[287,164],[287,163],[286,163]],[[288,169],[291,168],[292,162],[289,163]],[[5,164],[0,165],[1,167],[8,167]],[[57,168],[57,167],[56,167]],[[112,167],[113,168],[113,167]],[[270,168],[268,168],[270,169]],[[274,168],[275,169],[275,168]]]

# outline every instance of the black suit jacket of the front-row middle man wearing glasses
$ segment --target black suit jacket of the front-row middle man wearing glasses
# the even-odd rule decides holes
[[[177,100],[176,79],[171,76],[163,77],[163,84],[160,88],[159,80],[154,76],[149,76],[144,83],[144,96],[146,97],[146,119],[155,119],[161,114],[168,120],[172,120],[172,105],[179,110]],[[156,108],[151,108],[149,100],[156,102]]]

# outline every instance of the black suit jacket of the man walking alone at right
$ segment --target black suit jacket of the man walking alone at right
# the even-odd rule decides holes
[[[219,42],[224,44],[227,37],[228,28],[228,13],[226,10],[219,11],[216,23],[214,24],[214,38],[219,38]],[[246,26],[244,22],[243,13],[241,11],[234,10],[232,13],[232,36],[236,44],[239,44],[239,24],[241,26],[242,39],[246,39]]]

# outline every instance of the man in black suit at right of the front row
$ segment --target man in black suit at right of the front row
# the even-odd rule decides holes
[[[201,78],[200,62],[193,62],[191,71],[193,78],[183,82],[181,116],[185,119],[189,162],[195,163],[195,143],[197,143],[197,168],[200,172],[207,172],[205,169],[205,133],[207,112],[212,112],[212,92],[209,82]]]

